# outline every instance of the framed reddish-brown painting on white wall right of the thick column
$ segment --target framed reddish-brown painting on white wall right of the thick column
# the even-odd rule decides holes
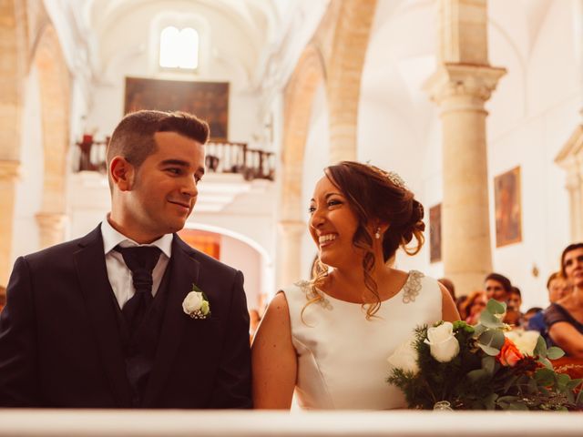
[[[496,248],[522,241],[520,168],[494,178]]]

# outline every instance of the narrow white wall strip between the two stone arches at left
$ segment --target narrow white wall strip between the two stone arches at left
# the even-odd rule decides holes
[[[21,177],[16,185],[12,259],[39,249],[35,215],[42,202],[45,171],[41,103],[36,66],[26,78],[22,113]]]

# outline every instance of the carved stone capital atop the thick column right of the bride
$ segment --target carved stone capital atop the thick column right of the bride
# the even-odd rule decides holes
[[[476,106],[483,106],[496,89],[506,68],[445,63],[424,83],[432,100],[441,105],[451,97],[470,97]]]

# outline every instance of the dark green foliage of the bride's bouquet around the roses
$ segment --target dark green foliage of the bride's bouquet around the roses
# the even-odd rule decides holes
[[[426,325],[414,331],[414,350],[419,371],[393,369],[387,381],[404,392],[410,408],[432,410],[435,402],[449,401],[454,410],[545,410],[583,408],[582,380],[571,380],[552,369],[549,359],[563,355],[548,348],[541,338],[534,351],[514,366],[502,365],[498,355],[505,345],[500,315],[506,305],[490,300],[480,322],[471,326],[463,320],[453,323],[459,353],[449,362],[431,355]],[[435,324],[438,326],[443,322]],[[503,361],[505,362],[505,361]]]

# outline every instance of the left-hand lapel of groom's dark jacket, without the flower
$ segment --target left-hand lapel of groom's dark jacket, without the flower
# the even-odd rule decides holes
[[[111,390],[120,407],[131,406],[131,388],[126,374],[118,320],[111,285],[107,278],[101,229],[87,234],[79,242],[75,253],[77,275],[87,304],[87,314],[92,322],[97,347],[111,384]]]

